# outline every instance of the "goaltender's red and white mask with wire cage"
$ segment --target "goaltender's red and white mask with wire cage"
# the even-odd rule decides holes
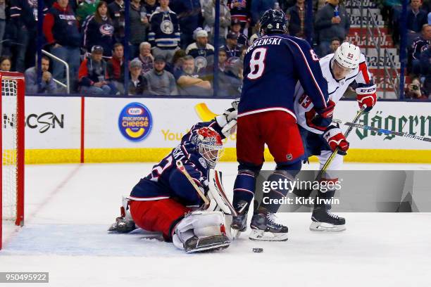
[[[223,153],[220,134],[211,127],[202,127],[197,131],[196,148],[209,167],[214,168]]]

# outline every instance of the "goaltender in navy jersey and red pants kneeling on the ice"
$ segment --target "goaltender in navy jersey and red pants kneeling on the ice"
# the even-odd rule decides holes
[[[181,143],[154,165],[151,173],[123,200],[122,215],[108,231],[127,233],[136,226],[159,231],[166,241],[173,241],[187,253],[227,248],[230,238],[225,231],[223,213],[208,211],[203,198],[176,162],[182,162],[201,193],[206,195],[210,189],[208,172],[223,151],[222,139],[235,132],[236,117],[237,110],[230,108],[211,122],[194,125]]]

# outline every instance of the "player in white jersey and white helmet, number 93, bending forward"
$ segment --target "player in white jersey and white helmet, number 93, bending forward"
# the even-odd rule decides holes
[[[366,112],[373,108],[377,101],[376,87],[368,71],[366,58],[358,46],[344,42],[335,53],[321,58],[319,63],[323,77],[327,80],[330,101],[336,104],[346,89],[353,86],[356,87],[356,99],[359,107],[365,106]],[[337,172],[335,171],[342,166],[343,155],[346,155],[346,151],[349,149],[349,142],[346,141],[342,130],[339,129],[338,125],[327,126],[327,122],[323,122],[327,119],[315,117],[316,112],[313,109],[313,103],[299,83],[295,89],[294,109],[307,158],[316,155],[321,169],[332,151],[337,147],[339,148],[338,154],[335,155],[321,179],[321,181],[337,181]],[[334,194],[335,189],[326,192],[318,191],[317,197],[329,199]],[[343,231],[346,229],[345,219],[332,215],[329,210],[330,205],[318,203],[316,200],[311,216],[311,230]]]

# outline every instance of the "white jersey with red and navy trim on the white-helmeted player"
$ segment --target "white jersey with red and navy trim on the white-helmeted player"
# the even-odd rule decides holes
[[[342,98],[349,85],[354,81],[356,81],[357,84],[362,84],[362,87],[373,86],[371,74],[367,68],[366,58],[362,53],[358,68],[339,81],[334,79],[332,75],[331,59],[333,56],[334,54],[331,53],[319,60],[323,77],[325,77],[327,81],[327,94],[329,95],[330,100],[337,103],[339,99]],[[337,106],[335,107],[337,108]],[[316,134],[323,134],[324,129],[319,129],[319,127],[316,127],[316,125],[313,125],[311,122],[313,117],[316,115],[316,112],[313,109],[311,98],[304,93],[304,89],[301,87],[301,83],[299,82],[295,87],[294,110],[298,125]]]

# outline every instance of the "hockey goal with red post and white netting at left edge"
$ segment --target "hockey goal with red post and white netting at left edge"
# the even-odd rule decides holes
[[[24,224],[24,76],[1,72],[0,248],[3,226]]]

